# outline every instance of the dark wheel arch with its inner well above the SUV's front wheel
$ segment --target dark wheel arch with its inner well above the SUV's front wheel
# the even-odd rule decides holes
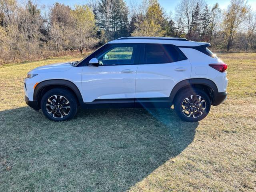
[[[74,93],[74,95],[76,96],[76,99],[79,103],[83,103],[82,95],[81,95],[79,89],[77,88],[77,86],[69,80],[61,80],[61,79],[45,80],[45,81],[40,82],[34,90],[33,100],[38,101],[38,104],[39,104],[40,99],[42,98],[42,95],[45,92],[47,92],[51,88],[58,88],[58,87],[67,88],[68,90],[70,90],[71,92]]]

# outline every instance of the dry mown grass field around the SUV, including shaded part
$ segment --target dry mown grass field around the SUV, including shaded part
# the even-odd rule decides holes
[[[51,122],[23,78],[56,58],[0,68],[0,191],[255,191],[256,54],[218,54],[228,100],[198,123],[168,109],[79,110]]]

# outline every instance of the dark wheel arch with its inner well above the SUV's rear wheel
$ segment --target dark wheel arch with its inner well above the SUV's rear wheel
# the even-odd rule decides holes
[[[187,79],[187,80],[182,80],[181,82],[178,82],[174,86],[174,88],[170,93],[170,101],[173,103],[175,96],[178,94],[178,92],[188,88],[200,88],[204,90],[210,97],[212,104],[214,102],[214,94],[218,93],[218,88],[212,80],[204,79],[204,78]]]

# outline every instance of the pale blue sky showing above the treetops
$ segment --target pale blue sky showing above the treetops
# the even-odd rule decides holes
[[[175,12],[176,5],[180,2],[180,0],[158,0],[160,5],[166,10],[166,13]],[[63,3],[65,5],[74,6],[74,4],[86,4],[87,0],[37,0],[39,5],[50,6],[55,2]],[[132,2],[137,2],[140,4],[142,0],[125,0],[128,6],[132,4]],[[226,9],[230,0],[206,0],[208,5],[212,6],[215,3],[218,3],[221,9]],[[256,0],[247,0],[248,5],[251,6],[252,10],[256,10]]]

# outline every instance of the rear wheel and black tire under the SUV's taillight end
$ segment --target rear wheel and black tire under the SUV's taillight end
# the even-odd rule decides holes
[[[174,110],[184,121],[198,122],[210,112],[211,101],[203,90],[185,89],[175,96]]]

